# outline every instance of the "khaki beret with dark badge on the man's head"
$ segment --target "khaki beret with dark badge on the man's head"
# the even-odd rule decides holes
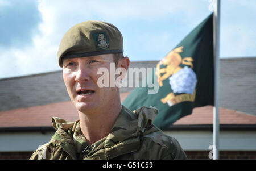
[[[64,58],[95,56],[123,52],[123,37],[113,24],[86,21],[69,29],[60,42],[57,58],[62,67]]]

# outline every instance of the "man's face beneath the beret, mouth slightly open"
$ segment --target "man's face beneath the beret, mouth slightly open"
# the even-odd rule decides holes
[[[119,99],[117,87],[100,88],[97,85],[102,76],[97,74],[99,68],[108,69],[110,81],[110,63],[113,62],[113,54],[63,60],[63,80],[78,111],[98,111]]]

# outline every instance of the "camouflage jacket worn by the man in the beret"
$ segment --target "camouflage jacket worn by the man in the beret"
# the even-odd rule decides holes
[[[157,112],[154,107],[141,107],[132,112],[122,106],[109,135],[88,145],[82,151],[82,158],[73,138],[79,120],[66,122],[53,117],[57,131],[30,159],[187,159],[179,142],[152,124]]]

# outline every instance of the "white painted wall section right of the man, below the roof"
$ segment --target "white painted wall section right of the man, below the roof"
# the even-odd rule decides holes
[[[212,131],[164,131],[187,151],[208,151]],[[220,151],[256,151],[256,131],[220,131]]]

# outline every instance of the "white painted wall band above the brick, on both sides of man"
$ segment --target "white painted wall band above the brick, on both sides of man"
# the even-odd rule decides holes
[[[175,137],[185,151],[210,151],[211,131],[164,131]],[[35,151],[47,143],[54,132],[0,133],[0,152]],[[256,151],[256,131],[220,131],[220,151]]]

